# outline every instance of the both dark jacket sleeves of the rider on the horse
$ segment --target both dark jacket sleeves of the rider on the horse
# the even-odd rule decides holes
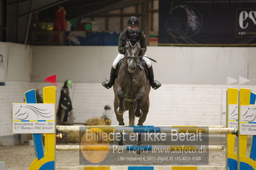
[[[118,41],[118,51],[120,54],[124,54],[124,42],[125,40],[129,39],[129,35],[128,35],[128,29],[124,29],[124,31],[122,33],[120,33],[119,36],[119,41]],[[140,52],[140,56],[144,55],[146,50],[147,50],[147,46],[146,46],[146,38],[143,32],[140,33],[138,40],[141,44],[141,52]]]

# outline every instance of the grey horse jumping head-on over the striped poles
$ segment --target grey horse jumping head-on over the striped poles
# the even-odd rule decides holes
[[[139,42],[127,41],[124,45],[124,61],[114,82],[114,111],[119,125],[124,125],[124,111],[129,111],[129,125],[135,125],[135,116],[139,118],[137,125],[143,125],[148,114],[151,87],[139,57],[140,50]]]

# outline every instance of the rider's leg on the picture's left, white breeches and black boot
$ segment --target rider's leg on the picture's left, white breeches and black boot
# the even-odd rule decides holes
[[[112,68],[110,71],[110,79],[108,81],[105,81],[102,83],[102,85],[109,89],[113,86],[114,82],[115,82],[115,70],[116,70],[116,66],[118,64],[118,62],[124,58],[123,54],[118,54],[117,57],[115,58],[113,64],[112,64]]]

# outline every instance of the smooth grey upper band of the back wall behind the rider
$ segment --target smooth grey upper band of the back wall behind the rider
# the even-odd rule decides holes
[[[155,77],[164,84],[226,84],[226,77],[256,84],[255,47],[148,47]],[[99,83],[109,77],[117,47],[36,46],[32,82],[56,73],[58,81]]]

